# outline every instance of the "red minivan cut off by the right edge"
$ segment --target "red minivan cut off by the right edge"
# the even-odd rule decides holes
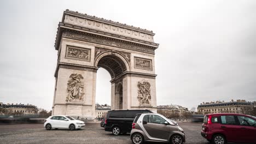
[[[256,143],[256,117],[238,113],[205,115],[201,135],[216,144]]]

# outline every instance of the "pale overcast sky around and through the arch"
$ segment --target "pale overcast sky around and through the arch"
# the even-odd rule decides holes
[[[57,25],[69,9],[152,30],[158,105],[256,100],[256,1],[1,1],[0,101],[53,105]],[[96,101],[110,104],[110,75]]]

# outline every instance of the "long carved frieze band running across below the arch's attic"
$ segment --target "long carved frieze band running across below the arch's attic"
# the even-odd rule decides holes
[[[72,32],[63,32],[62,37],[88,41],[90,43],[119,47],[121,49],[127,49],[127,50],[133,50],[133,51],[139,51],[139,52],[145,52],[145,53],[151,53],[151,54],[155,53],[154,49],[149,48],[148,46],[136,45],[132,43],[123,43],[122,41],[117,41],[114,39],[112,40],[112,39],[106,39],[104,37],[95,37],[87,33],[77,34]]]

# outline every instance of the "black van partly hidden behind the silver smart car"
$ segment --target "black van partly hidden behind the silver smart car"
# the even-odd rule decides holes
[[[138,113],[153,113],[149,110],[112,110],[108,111],[105,120],[105,131],[112,131],[114,135],[130,133],[132,122]]]

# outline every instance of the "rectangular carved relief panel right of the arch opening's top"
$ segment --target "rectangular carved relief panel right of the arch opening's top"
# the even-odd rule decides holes
[[[134,57],[134,65],[137,69],[152,70],[152,59]]]

